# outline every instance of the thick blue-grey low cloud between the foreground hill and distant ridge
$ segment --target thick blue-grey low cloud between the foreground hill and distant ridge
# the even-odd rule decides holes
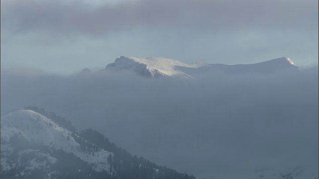
[[[318,67],[196,81],[1,71],[1,113],[25,105],[199,179],[295,166],[318,174]]]

